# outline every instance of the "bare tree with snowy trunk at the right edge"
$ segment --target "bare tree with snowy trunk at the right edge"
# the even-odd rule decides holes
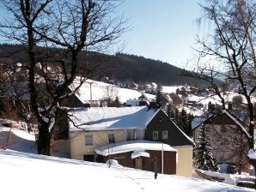
[[[204,69],[206,75],[216,74],[225,76],[226,81],[238,87],[247,101],[247,113],[249,131],[247,143],[250,149],[254,149],[254,114],[252,95],[255,92],[255,9],[254,1],[229,0],[208,1],[201,4],[204,15],[199,22],[206,19],[210,21],[213,33],[209,33],[207,39],[197,39],[198,55],[204,57],[204,61],[218,64],[219,70],[214,68]],[[204,63],[200,63],[202,66]],[[212,66],[212,65],[211,65]],[[208,70],[208,71],[207,71]],[[228,71],[228,73],[225,73]],[[199,77],[199,75],[198,75]],[[214,75],[211,75],[214,77]],[[204,79],[204,78],[203,78]],[[216,87],[218,94],[219,87]],[[225,105],[222,105],[225,108]],[[256,171],[256,162],[251,159]]]

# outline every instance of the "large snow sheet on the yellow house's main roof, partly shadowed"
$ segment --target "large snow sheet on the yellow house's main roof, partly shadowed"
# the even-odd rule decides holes
[[[76,108],[70,111],[70,131],[146,129],[156,112],[147,106]]]

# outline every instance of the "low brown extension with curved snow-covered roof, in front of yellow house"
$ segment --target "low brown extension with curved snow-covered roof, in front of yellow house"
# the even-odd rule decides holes
[[[95,153],[98,162],[115,159],[126,167],[176,174],[177,150],[161,142],[124,141],[98,147]]]

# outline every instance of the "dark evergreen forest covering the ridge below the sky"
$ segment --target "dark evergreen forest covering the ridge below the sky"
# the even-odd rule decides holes
[[[21,50],[21,51],[20,51]],[[38,48],[38,54],[45,57],[51,57],[50,61],[58,59],[58,54],[62,52],[58,48]],[[2,63],[19,63],[26,62],[26,54],[21,45],[0,45],[0,61]],[[3,57],[4,56],[4,57]],[[86,57],[88,62],[86,63]],[[40,61],[39,61],[40,62]],[[192,79],[183,75],[188,71],[175,67],[169,63],[153,60],[135,55],[118,53],[116,55],[106,55],[98,52],[82,51],[79,55],[79,62],[82,69],[79,74],[85,74],[90,70],[88,78],[100,80],[101,77],[107,76],[115,81],[130,81],[136,83],[155,82],[162,86],[172,85],[204,85],[204,81]],[[192,73],[192,72],[189,72]]]

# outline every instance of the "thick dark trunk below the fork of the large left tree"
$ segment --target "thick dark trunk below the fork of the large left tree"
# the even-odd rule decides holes
[[[47,123],[39,124],[38,153],[52,155],[52,133]]]

